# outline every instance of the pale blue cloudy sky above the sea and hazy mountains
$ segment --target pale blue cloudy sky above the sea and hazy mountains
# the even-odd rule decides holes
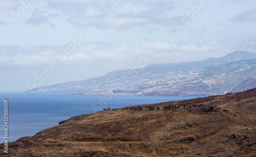
[[[0,91],[256,52],[254,0],[0,0]]]

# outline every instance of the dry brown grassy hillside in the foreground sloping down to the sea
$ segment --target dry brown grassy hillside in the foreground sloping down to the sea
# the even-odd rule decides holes
[[[170,109],[184,104],[194,108]],[[256,88],[140,106],[168,107],[72,117],[9,143],[9,154],[2,144],[0,155],[256,156]]]

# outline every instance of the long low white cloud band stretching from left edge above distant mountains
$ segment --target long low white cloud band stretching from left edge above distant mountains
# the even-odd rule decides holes
[[[130,59],[142,56],[150,55],[155,63],[173,61],[184,61],[184,58],[197,59],[195,54],[205,54],[209,52],[218,51],[220,46],[215,42],[211,43],[165,43],[165,42],[146,42],[141,44],[123,44],[113,45],[110,42],[94,42],[84,43],[77,47],[74,52],[66,56],[65,60],[58,58],[57,52],[61,49],[57,47],[2,47],[0,49],[1,64],[9,65],[44,65],[48,64],[52,60],[58,60],[60,62],[77,62],[77,61],[94,61],[98,60],[111,60],[115,62],[116,59]],[[56,51],[53,51],[56,50]],[[12,51],[12,53],[8,53]],[[63,54],[63,53],[62,53]],[[172,56],[178,56],[180,58],[174,58]],[[182,57],[181,57],[182,56]],[[212,55],[211,55],[212,56]],[[172,58],[170,60],[169,58]],[[205,59],[207,57],[201,57]]]

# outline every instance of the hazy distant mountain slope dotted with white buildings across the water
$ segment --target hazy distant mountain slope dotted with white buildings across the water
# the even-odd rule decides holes
[[[256,53],[237,51],[221,58],[117,70],[97,78],[41,86],[28,92],[207,96],[254,88],[255,76]]]

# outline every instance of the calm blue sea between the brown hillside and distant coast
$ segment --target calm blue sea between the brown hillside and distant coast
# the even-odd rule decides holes
[[[0,143],[4,143],[4,100],[8,100],[8,142],[58,125],[71,117],[94,113],[103,108],[193,99],[197,97],[74,95],[71,93],[0,93]],[[2,128],[2,129],[1,129]]]

